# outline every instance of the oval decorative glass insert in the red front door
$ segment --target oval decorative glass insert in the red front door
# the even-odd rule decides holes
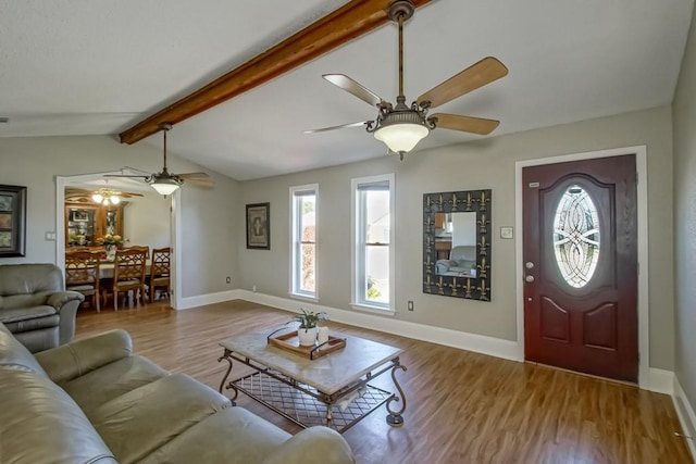
[[[552,237],[566,283],[575,288],[587,285],[599,260],[599,215],[582,187],[569,187],[558,202]]]

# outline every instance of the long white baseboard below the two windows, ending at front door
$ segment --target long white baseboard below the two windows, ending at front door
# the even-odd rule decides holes
[[[432,343],[445,344],[447,347],[488,354],[496,358],[502,358],[505,360],[520,361],[518,355],[518,343],[511,340],[415,324],[407,321],[398,321],[390,316],[381,316],[373,313],[362,313],[339,310],[337,308],[322,306],[316,303],[256,293],[248,290],[238,290],[237,294],[237,298],[243,300],[277,308],[279,310],[299,312],[300,308],[306,308],[310,311],[324,311],[331,321],[380,330],[401,337],[413,338],[417,340],[428,341]]]

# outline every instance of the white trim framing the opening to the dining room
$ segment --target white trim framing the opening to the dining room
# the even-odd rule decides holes
[[[76,176],[55,176],[55,265],[65,271],[65,187],[90,180],[102,179],[104,174],[123,174],[122,171],[108,173],[83,174]],[[170,240],[172,243],[172,281],[170,305],[176,310],[182,308],[182,281],[181,281],[181,251],[177,243],[181,241],[182,212],[178,211],[182,189],[176,189],[169,198],[170,201]]]

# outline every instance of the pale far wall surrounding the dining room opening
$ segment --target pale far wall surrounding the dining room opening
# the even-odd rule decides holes
[[[179,293],[194,297],[234,289],[238,274],[234,243],[244,216],[236,206],[238,184],[171,154],[170,171],[207,171],[215,183],[213,188],[185,185],[182,189],[181,251],[185,264]],[[121,145],[108,136],[0,138],[0,184],[28,187],[26,256],[0,259],[0,264],[55,262],[55,242],[45,238],[55,228],[55,176],[123,166],[158,172],[161,163],[161,149],[146,143]],[[233,278],[231,284],[225,283],[226,276]]]

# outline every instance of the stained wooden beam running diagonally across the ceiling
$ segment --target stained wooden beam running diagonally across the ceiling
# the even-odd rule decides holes
[[[415,8],[432,0],[412,0]],[[294,36],[216,78],[191,95],[160,110],[119,135],[135,143],[160,130],[160,123],[177,124],[253,89],[288,71],[389,22],[391,0],[352,0]]]

